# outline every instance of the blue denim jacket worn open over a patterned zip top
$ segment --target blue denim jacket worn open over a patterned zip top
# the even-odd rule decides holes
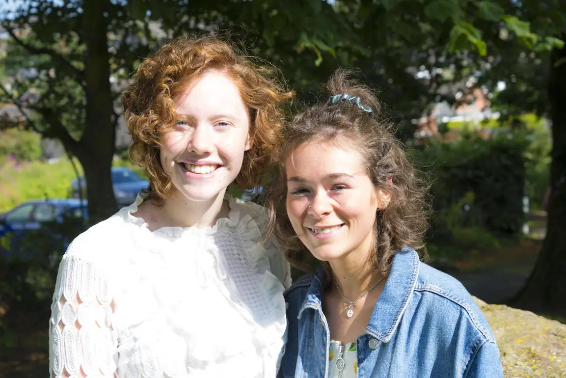
[[[327,377],[329,329],[322,312],[323,269],[285,294],[288,342],[280,376]],[[366,333],[357,338],[358,377],[503,377],[499,349],[481,310],[453,277],[404,248]]]

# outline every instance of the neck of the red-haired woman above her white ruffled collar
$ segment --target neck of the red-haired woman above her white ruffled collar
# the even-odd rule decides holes
[[[228,216],[230,208],[224,203],[225,192],[208,201],[191,201],[174,191],[161,207],[161,221],[177,227],[211,227],[218,219]]]

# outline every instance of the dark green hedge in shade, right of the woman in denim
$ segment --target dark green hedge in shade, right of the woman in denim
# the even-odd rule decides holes
[[[530,209],[542,207],[550,146],[550,130],[537,123],[494,129],[490,138],[462,129],[457,140],[427,140],[410,149],[431,185],[430,254],[496,250],[502,238],[518,237],[525,199]]]

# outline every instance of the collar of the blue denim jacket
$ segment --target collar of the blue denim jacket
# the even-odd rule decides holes
[[[393,256],[391,272],[389,272],[385,287],[381,291],[367,324],[368,334],[381,342],[391,340],[409,303],[409,298],[413,294],[418,273],[419,256],[417,252],[405,247]],[[307,308],[321,311],[321,299],[326,284],[328,284],[328,278],[324,269],[320,268],[308,287],[307,295],[297,316],[298,319],[301,319],[303,311]]]

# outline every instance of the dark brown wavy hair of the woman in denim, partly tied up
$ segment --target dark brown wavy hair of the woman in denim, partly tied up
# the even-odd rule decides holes
[[[351,72],[337,70],[327,84],[331,96],[359,96],[361,104],[353,102],[319,103],[301,111],[286,129],[282,143],[278,173],[269,190],[265,206],[268,209],[268,233],[275,233],[286,249],[286,257],[295,267],[312,270],[314,257],[299,240],[286,213],[285,160],[294,148],[311,140],[344,144],[349,140],[361,154],[366,172],[376,188],[391,195],[391,203],[379,209],[375,217],[375,242],[372,253],[374,269],[388,274],[392,257],[404,246],[424,250],[424,233],[428,229],[427,187],[418,177],[408,155],[395,138],[392,124],[380,119],[380,103],[371,89],[351,79]],[[391,181],[389,181],[391,178]],[[329,268],[327,263],[323,263]]]

